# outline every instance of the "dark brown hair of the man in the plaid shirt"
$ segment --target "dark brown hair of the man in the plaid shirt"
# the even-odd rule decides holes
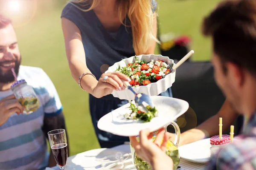
[[[256,75],[256,0],[225,0],[204,18],[203,34],[212,37],[213,50]]]

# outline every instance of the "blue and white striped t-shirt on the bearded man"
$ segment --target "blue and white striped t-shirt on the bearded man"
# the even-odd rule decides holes
[[[44,116],[61,113],[61,101],[52,81],[41,68],[21,65],[17,79],[25,79],[34,88],[41,106],[29,115],[14,113],[0,126],[0,170],[44,169],[49,153],[41,127]],[[11,94],[11,90],[0,91],[0,99]]]

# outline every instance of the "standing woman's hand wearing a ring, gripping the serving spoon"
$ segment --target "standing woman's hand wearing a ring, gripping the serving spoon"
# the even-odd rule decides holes
[[[99,78],[99,82],[93,88],[92,95],[96,98],[101,98],[111,94],[114,90],[124,90],[125,87],[122,80],[127,82],[131,81],[131,79],[125,76],[125,74],[119,73],[117,71],[102,74],[102,76]]]

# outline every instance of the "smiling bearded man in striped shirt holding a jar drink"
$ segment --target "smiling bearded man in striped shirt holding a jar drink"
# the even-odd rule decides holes
[[[12,21],[0,15],[0,169],[40,170],[55,166],[56,161],[47,151],[47,132],[65,129],[64,116],[58,93],[41,68],[20,65],[21,56]],[[29,115],[10,87],[17,79],[31,85],[41,103]]]

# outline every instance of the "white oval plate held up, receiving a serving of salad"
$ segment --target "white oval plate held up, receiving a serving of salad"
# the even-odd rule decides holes
[[[100,130],[113,133],[119,136],[137,136],[140,130],[148,128],[151,132],[169,125],[170,122],[177,119],[188,108],[188,102],[165,96],[151,96],[156,107],[158,116],[151,119],[151,122],[143,123],[137,120],[129,120],[124,118],[125,113],[130,113],[129,103],[120,108],[106,114],[98,122]]]

